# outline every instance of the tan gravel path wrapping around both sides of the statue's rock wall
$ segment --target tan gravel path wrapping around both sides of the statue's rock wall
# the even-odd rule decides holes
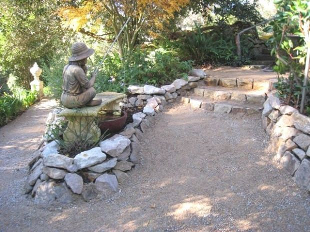
[[[310,198],[272,163],[260,116],[174,105],[108,198],[39,208],[22,194],[52,102],[0,128],[0,232],[308,232]]]

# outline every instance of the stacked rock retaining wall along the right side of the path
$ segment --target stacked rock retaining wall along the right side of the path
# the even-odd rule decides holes
[[[310,191],[310,118],[281,104],[268,94],[263,104],[262,125],[270,136],[270,149],[300,188]]]

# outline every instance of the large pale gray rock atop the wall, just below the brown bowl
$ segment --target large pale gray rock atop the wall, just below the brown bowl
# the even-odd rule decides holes
[[[111,138],[100,142],[100,147],[106,154],[116,157],[120,155],[130,144],[130,140],[122,135],[113,135]]]

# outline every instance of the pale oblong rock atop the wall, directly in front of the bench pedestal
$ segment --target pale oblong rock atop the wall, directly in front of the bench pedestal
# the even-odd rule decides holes
[[[73,164],[75,164],[79,170],[103,162],[106,159],[106,155],[101,151],[101,149],[102,148],[100,147],[95,147],[77,154],[73,159]]]

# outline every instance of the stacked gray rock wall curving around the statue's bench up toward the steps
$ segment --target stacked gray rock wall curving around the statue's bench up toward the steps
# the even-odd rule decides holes
[[[88,202],[98,194],[118,192],[118,183],[124,182],[128,177],[126,172],[139,163],[140,140],[143,132],[155,123],[153,116],[173,102],[182,90],[197,87],[194,82],[205,77],[200,69],[192,70],[189,75],[188,80],[176,79],[160,88],[129,86],[128,91],[137,96],[127,99],[126,104],[144,106],[142,112],[133,114],[133,122],[123,131],[73,158],[59,154],[59,143],[52,138],[51,130],[65,122],[65,118],[57,116],[61,110],[53,110],[46,120],[44,145],[29,163],[25,193],[34,197],[36,204],[48,205],[70,203],[78,198]]]

